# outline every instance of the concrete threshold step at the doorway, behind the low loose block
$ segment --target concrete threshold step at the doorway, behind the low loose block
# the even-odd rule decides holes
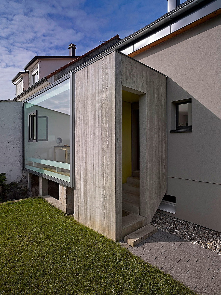
[[[132,213],[122,217],[122,239],[147,223],[147,218]]]

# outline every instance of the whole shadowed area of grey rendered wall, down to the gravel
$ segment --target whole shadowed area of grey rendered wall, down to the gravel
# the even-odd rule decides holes
[[[170,133],[175,126],[173,101],[192,99],[192,132]],[[221,119],[215,97],[207,107],[172,79],[167,80],[167,194],[176,196],[176,214],[221,231]],[[215,105],[216,104],[216,105]]]

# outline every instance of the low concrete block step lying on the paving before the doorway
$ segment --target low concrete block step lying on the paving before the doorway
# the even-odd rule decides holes
[[[157,227],[148,224],[132,232],[131,234],[125,236],[124,242],[134,247],[140,242],[142,242],[143,240],[146,240],[148,237],[155,234],[155,232],[157,231],[158,231]]]

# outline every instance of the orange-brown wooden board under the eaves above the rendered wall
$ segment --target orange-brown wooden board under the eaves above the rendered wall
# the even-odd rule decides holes
[[[158,45],[158,44],[160,44],[160,43],[162,43],[164,41],[170,40],[173,37],[175,37],[177,35],[180,35],[180,34],[186,32],[186,31],[198,26],[199,24],[202,24],[202,23],[206,22],[207,20],[212,19],[213,17],[216,17],[217,15],[220,15],[220,14],[221,14],[221,8],[214,11],[214,12],[212,12],[212,13],[210,13],[210,14],[208,14],[208,15],[206,15],[205,17],[197,19],[195,22],[192,22],[191,24],[188,24],[187,26],[185,26],[185,27],[183,27],[183,28],[181,28],[181,29],[179,29],[179,30],[177,30],[175,32],[172,32],[170,35],[162,37],[161,39],[159,39],[159,40],[157,40],[157,41],[155,41],[155,42],[153,42],[151,44],[148,44],[147,46],[144,46],[144,47],[142,47],[142,48],[128,54],[128,56],[134,57],[134,56],[138,55],[139,53],[142,53],[142,52],[144,52],[144,51],[146,51],[146,50],[148,50],[148,49],[150,49],[150,48],[152,48],[152,47],[154,47],[154,46],[156,46],[156,45]]]

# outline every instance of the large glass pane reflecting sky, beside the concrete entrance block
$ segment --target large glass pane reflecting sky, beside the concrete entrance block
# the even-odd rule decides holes
[[[25,102],[24,168],[70,183],[70,126],[69,78]]]

